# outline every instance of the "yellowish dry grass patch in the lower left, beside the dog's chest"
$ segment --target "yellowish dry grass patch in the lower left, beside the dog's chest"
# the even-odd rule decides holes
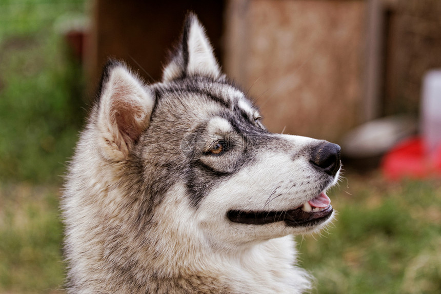
[[[0,187],[0,292],[54,293],[64,279],[56,188]]]

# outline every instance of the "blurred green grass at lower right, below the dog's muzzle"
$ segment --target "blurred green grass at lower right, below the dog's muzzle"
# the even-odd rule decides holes
[[[355,175],[331,193],[337,220],[299,238],[314,293],[441,293],[441,184]]]

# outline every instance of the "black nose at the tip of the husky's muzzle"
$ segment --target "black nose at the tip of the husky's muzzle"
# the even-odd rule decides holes
[[[318,145],[312,151],[310,162],[315,167],[334,176],[340,168],[340,146],[328,142]]]

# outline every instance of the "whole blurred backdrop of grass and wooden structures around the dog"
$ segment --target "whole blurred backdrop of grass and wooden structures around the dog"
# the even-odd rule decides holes
[[[441,293],[441,1],[0,0],[0,293],[63,293],[58,199],[102,66],[161,78],[188,10],[273,132],[342,146],[313,293]]]

